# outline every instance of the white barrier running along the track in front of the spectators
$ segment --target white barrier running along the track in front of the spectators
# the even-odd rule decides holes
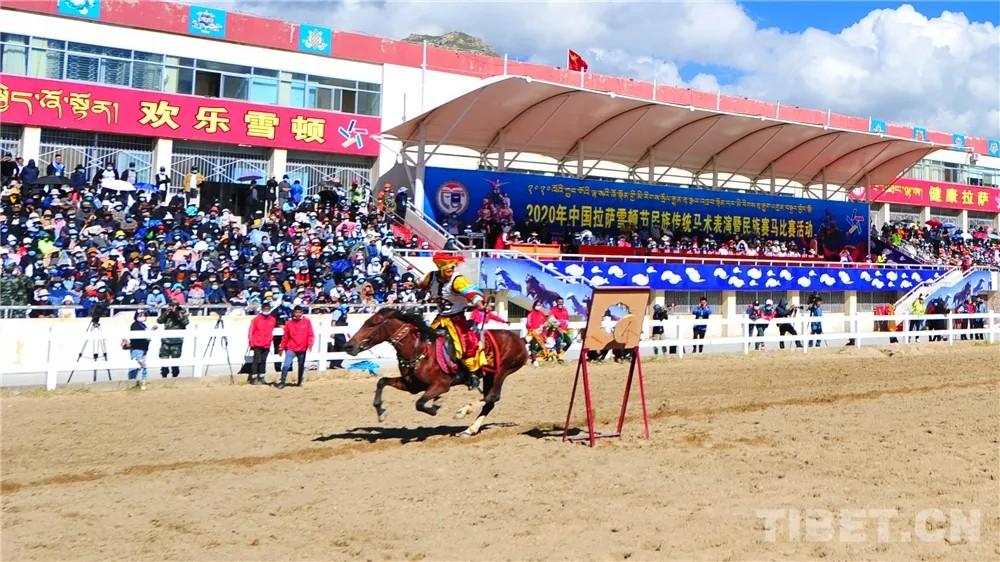
[[[45,374],[45,386],[54,389],[59,384],[60,373],[68,375],[70,372],[89,373],[93,371],[103,373],[106,370],[122,371],[136,367],[136,362],[129,358],[128,350],[122,349],[120,343],[123,339],[148,339],[150,340],[147,361],[149,369],[155,370],[160,367],[191,367],[195,377],[204,376],[209,367],[225,367],[232,365],[233,372],[239,370],[246,361],[248,351],[247,327],[244,323],[231,322],[230,326],[223,329],[199,326],[192,323],[185,330],[163,330],[162,327],[146,331],[133,332],[123,328],[105,328],[100,332],[86,332],[76,326],[47,326],[42,330],[28,330],[29,338],[43,338],[43,341],[34,342],[36,345],[29,351],[29,364],[23,362],[5,361],[0,364],[0,386],[8,386],[10,377],[19,375],[39,373]],[[972,328],[972,320],[984,320],[982,328]],[[327,344],[333,343],[335,334],[344,334],[346,337],[353,335],[364,322],[365,317],[353,316],[348,320],[348,326],[331,326],[329,316],[312,317],[313,329],[316,334],[315,342],[306,355],[309,362],[319,362],[322,368],[326,362],[331,360],[345,361],[347,364],[353,361],[374,360],[380,365],[391,365],[395,363],[395,352],[392,347],[383,343],[371,350],[365,351],[357,356],[349,356],[343,352],[327,351]],[[921,321],[926,324],[928,321],[945,320],[945,330],[924,330],[910,331],[911,321]],[[967,327],[957,327],[956,321],[970,321]],[[895,321],[902,325],[902,331],[886,332],[874,329],[874,322]],[[33,321],[20,320],[19,325],[29,326]],[[810,324],[819,322],[823,326],[823,334],[809,334]],[[955,339],[960,335],[969,338],[982,335],[982,339],[989,343],[1000,341],[1000,314],[952,314],[952,315],[925,315],[914,317],[910,315],[895,316],[796,316],[793,318],[781,318],[767,322],[767,330],[777,331],[778,324],[791,324],[797,335],[750,335],[751,324],[763,324],[760,321],[750,321],[746,317],[739,318],[710,318],[708,320],[698,320],[692,317],[671,318],[664,321],[652,321],[646,319],[643,324],[643,336],[639,343],[641,349],[673,347],[677,348],[677,355],[684,356],[684,347],[693,345],[705,346],[705,348],[733,348],[739,347],[744,353],[749,353],[755,344],[775,344],[785,343],[791,348],[798,349],[795,342],[801,342],[802,351],[808,351],[806,342],[820,341],[826,345],[831,340],[854,340],[855,345],[863,344],[887,344],[890,338],[897,338],[900,343],[911,343],[921,336],[947,337],[949,344],[954,344]],[[7,326],[9,326],[8,324]],[[576,331],[584,327],[584,322],[571,322],[570,328]],[[707,327],[707,334],[704,339],[695,339],[692,333],[694,326],[704,325]],[[652,328],[661,326],[664,328],[664,339],[651,339]],[[515,323],[511,326],[504,324],[490,323],[488,329],[511,329],[517,330],[522,336],[526,335],[523,323]],[[725,335],[722,334],[726,330]],[[281,329],[275,330],[275,335],[280,335]],[[16,336],[15,336],[16,337]],[[24,336],[22,336],[24,337]],[[184,340],[182,356],[178,359],[160,359],[158,357],[159,342],[163,338],[178,338]],[[214,338],[214,342],[213,342]],[[225,341],[223,341],[225,338]],[[4,339],[11,339],[6,337]],[[105,349],[97,348],[97,359],[95,360],[96,342],[103,341]],[[214,344],[214,345],[213,345]],[[574,342],[569,348],[570,351],[579,351],[582,345],[579,337],[574,338]],[[101,351],[107,352],[107,360],[104,360]],[[269,354],[268,363],[280,362],[280,357],[274,353]],[[227,375],[228,369],[215,369],[215,375]],[[84,381],[85,376],[80,375],[78,381]]]

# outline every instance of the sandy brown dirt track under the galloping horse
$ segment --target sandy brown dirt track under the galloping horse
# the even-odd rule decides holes
[[[592,371],[610,422],[621,368]],[[512,376],[470,440],[451,435],[469,392],[432,418],[387,389],[379,424],[373,379],[343,374],[282,391],[151,379],[144,393],[6,392],[0,556],[1000,558],[1000,347],[688,356],[646,371],[652,439],[635,407],[625,437],[596,449],[557,437],[570,367]],[[859,542],[791,540],[787,523],[769,542],[757,510],[772,508],[898,516],[889,542],[874,520]],[[904,542],[930,508],[979,510],[978,540]]]

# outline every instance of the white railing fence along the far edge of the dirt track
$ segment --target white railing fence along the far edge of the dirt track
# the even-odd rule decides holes
[[[251,317],[227,318],[228,326],[216,329],[211,324],[214,318],[195,318],[186,330],[147,330],[132,332],[128,330],[129,323],[121,318],[105,319],[105,326],[100,331],[87,331],[88,320],[8,320],[2,324],[3,334],[0,337],[0,353],[6,358],[0,364],[0,386],[20,386],[44,383],[48,389],[67,384],[70,374],[73,382],[91,382],[104,378],[122,379],[124,371],[136,367],[136,362],[129,358],[127,350],[121,348],[121,341],[130,338],[150,340],[149,370],[155,375],[160,367],[180,367],[183,374],[191,373],[195,377],[209,375],[229,375],[237,372],[246,360],[248,348],[247,330]],[[354,361],[374,360],[381,367],[392,366],[395,363],[395,352],[388,344],[381,344],[357,357],[351,357],[342,352],[327,351],[327,344],[333,343],[335,334],[345,334],[350,337],[365,320],[365,316],[354,315],[348,321],[348,326],[331,326],[329,316],[312,317],[316,340],[307,354],[310,362],[319,362],[319,368],[324,369],[328,361],[343,360],[345,367]],[[917,326],[914,322],[929,322],[943,320],[942,330],[911,330]],[[973,328],[976,321],[982,320],[982,327]],[[117,321],[117,322],[115,322]],[[902,331],[877,331],[876,322],[896,321],[902,326]],[[810,334],[811,325],[818,322],[822,325],[823,334]],[[964,323],[964,327],[960,327]],[[931,337],[942,336],[949,345],[961,336],[967,339],[982,340],[988,343],[1000,342],[1000,314],[953,314],[947,316],[927,315],[912,317],[897,316],[796,316],[783,318],[767,323],[765,335],[750,334],[751,322],[745,317],[725,319],[712,318],[696,320],[691,317],[671,318],[662,322],[646,319],[643,327],[643,338],[639,345],[641,349],[673,347],[677,355],[683,357],[690,353],[691,346],[704,346],[712,352],[749,353],[759,344],[768,348],[784,343],[793,350],[808,352],[807,342],[821,342],[823,345],[840,345],[853,342],[854,345],[889,344],[890,338],[900,344],[928,341]],[[777,335],[779,324],[790,324],[797,335]],[[149,325],[155,325],[152,320]],[[650,337],[653,326],[664,328],[664,339],[653,340]],[[696,325],[706,327],[706,337],[695,339],[693,328]],[[488,325],[489,328],[503,328],[503,325]],[[583,328],[583,322],[573,322],[574,330]],[[523,324],[514,324],[509,329],[518,330],[524,335]],[[280,334],[281,330],[275,331]],[[183,352],[178,359],[160,359],[158,357],[159,341],[163,338],[182,338]],[[796,345],[799,342],[801,348]],[[571,351],[581,347],[579,338],[575,338]],[[280,358],[271,354],[269,364],[280,362]],[[188,371],[190,369],[190,371]],[[116,372],[112,374],[112,372]],[[116,376],[117,375],[117,376]],[[155,376],[154,376],[155,378]]]

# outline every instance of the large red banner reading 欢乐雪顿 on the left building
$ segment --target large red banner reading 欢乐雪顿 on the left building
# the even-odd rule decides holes
[[[0,120],[226,144],[378,156],[381,119],[0,74]]]

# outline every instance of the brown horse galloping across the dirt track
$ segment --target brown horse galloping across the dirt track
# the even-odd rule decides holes
[[[398,377],[383,377],[375,388],[375,411],[379,421],[385,421],[386,408],[382,405],[382,389],[386,386],[405,390],[410,394],[423,392],[417,399],[417,410],[425,414],[437,415],[438,404],[434,402],[452,385],[456,377],[445,372],[435,358],[435,340],[438,335],[419,314],[393,308],[383,308],[373,314],[344,345],[349,355],[370,349],[382,342],[389,342],[396,349],[399,361]],[[521,338],[508,330],[488,330],[486,338],[487,365],[483,366],[483,400],[481,411],[475,422],[463,433],[475,435],[482,428],[486,416],[500,401],[500,390],[508,375],[528,362],[528,350]],[[459,410],[457,418],[465,417],[473,405]]]

